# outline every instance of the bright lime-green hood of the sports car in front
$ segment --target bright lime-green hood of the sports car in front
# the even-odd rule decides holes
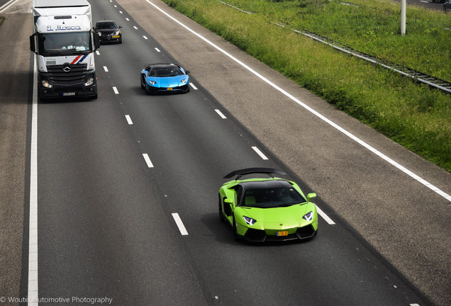
[[[306,221],[302,217],[308,212],[313,212],[313,220],[316,220],[316,206],[313,203],[304,203],[298,205],[291,205],[289,207],[278,208],[238,208],[240,214],[246,217],[251,217],[255,222],[252,227],[269,229],[269,228],[289,228],[301,227],[311,221]],[[282,224],[282,225],[281,225]]]

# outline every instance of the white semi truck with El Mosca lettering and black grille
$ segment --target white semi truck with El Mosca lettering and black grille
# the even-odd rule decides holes
[[[33,0],[33,25],[30,50],[38,63],[40,98],[97,98],[94,51],[100,42],[91,30],[89,2]]]

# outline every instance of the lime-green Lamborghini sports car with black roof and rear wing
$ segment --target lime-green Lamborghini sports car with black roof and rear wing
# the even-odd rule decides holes
[[[267,174],[268,178],[240,179],[247,174]],[[219,218],[233,227],[236,239],[251,242],[307,239],[316,235],[318,214],[310,200],[293,181],[274,177],[284,175],[271,168],[233,171],[219,189]]]

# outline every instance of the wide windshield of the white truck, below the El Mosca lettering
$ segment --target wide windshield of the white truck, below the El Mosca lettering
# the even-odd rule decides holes
[[[91,50],[89,32],[45,33],[40,36],[42,53]]]

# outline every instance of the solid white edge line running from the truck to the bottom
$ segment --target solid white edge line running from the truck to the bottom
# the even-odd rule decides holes
[[[28,234],[28,305],[38,306],[38,66],[33,72],[30,144],[30,222]]]

